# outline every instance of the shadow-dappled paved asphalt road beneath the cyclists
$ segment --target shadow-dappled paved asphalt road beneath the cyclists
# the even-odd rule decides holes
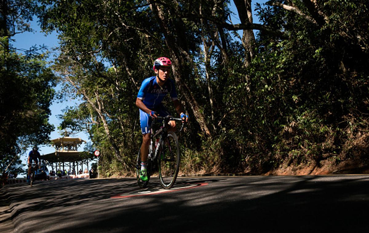
[[[7,185],[0,232],[369,232],[369,175],[185,177],[175,187],[160,192],[158,178],[144,190],[133,178]]]

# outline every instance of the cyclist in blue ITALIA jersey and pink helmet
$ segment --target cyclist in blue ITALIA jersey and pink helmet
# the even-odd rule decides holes
[[[157,116],[166,117],[169,114],[162,104],[163,98],[169,94],[172,98],[173,105],[183,121],[188,120],[188,116],[184,114],[182,104],[177,98],[174,81],[169,79],[170,68],[172,62],[165,57],[161,57],[154,62],[155,76],[149,77],[142,81],[141,88],[138,91],[136,106],[140,112],[140,125],[142,132],[141,145],[141,171],[140,178],[147,181],[146,161],[149,153],[150,145],[150,124],[152,118]],[[168,130],[174,131],[176,127],[175,121],[170,121]]]

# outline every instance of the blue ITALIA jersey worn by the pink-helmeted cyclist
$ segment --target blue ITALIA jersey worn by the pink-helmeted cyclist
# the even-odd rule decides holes
[[[168,79],[168,81],[166,81],[166,83],[161,87],[156,82],[156,77],[152,76],[142,81],[137,98],[141,99],[146,107],[151,110],[155,110],[160,107],[163,98],[167,94],[170,94],[172,100],[177,100],[178,97],[174,81],[172,79]]]

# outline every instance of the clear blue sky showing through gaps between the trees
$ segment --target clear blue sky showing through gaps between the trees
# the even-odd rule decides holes
[[[265,3],[265,2],[266,0],[254,1],[252,10],[255,9],[255,3]],[[237,12],[237,10],[235,9],[233,5],[232,0],[231,0],[231,9],[232,11]],[[237,24],[239,23],[239,19],[237,17],[232,16],[232,22],[234,24]],[[256,23],[259,22],[256,16],[254,16],[254,22]],[[52,32],[48,35],[45,35],[39,28],[37,18],[34,18],[34,21],[31,21],[30,23],[31,23],[31,28],[34,30],[34,32],[24,32],[24,33],[15,35],[12,38],[15,40],[15,42],[12,43],[15,48],[29,49],[31,46],[45,45],[45,46],[48,46],[49,49],[52,49],[58,46],[58,35],[56,34],[56,32]],[[239,32],[242,34],[241,30]],[[57,54],[57,51],[52,52],[51,58],[56,54]],[[57,91],[60,90],[60,86],[58,86],[56,90]],[[58,129],[56,128],[61,123],[61,121],[57,118],[57,115],[62,114],[62,109],[65,109],[66,107],[69,107],[69,106],[75,106],[76,104],[77,104],[76,100],[72,100],[72,99],[68,101],[63,101],[61,103],[58,103],[56,101],[52,103],[51,105],[52,115],[49,118],[49,122],[55,126],[55,131],[51,133],[50,135],[51,139],[61,137],[61,135],[58,132]],[[88,141],[88,135],[85,133],[79,133],[75,137]],[[84,147],[84,143],[79,148],[79,150],[83,150],[83,147]],[[48,153],[55,152],[55,149],[51,146],[46,145],[46,146],[41,146],[39,151],[41,154],[48,154]],[[24,163],[26,163],[25,161],[27,160],[27,157],[28,157],[28,154],[24,154],[21,157]]]

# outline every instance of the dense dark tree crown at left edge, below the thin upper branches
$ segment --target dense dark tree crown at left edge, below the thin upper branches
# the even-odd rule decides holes
[[[55,79],[44,59],[43,55],[22,56],[0,50],[2,169],[8,165],[7,157],[24,153],[30,145],[48,142],[54,130],[48,118]]]

